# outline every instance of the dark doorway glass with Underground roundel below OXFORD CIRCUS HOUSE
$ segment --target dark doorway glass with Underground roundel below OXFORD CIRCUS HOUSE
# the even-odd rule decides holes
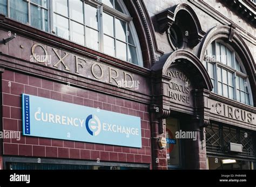
[[[180,168],[180,140],[175,138],[179,131],[179,121],[176,118],[166,119],[166,155],[169,168]]]

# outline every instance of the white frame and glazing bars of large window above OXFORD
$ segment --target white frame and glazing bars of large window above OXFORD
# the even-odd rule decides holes
[[[68,17],[65,16],[65,15],[62,15],[61,13],[53,11],[53,0],[46,0],[46,3],[47,3],[46,7],[44,7],[42,5],[38,5],[36,3],[33,3],[33,2],[31,2],[31,0],[21,0],[21,1],[24,1],[24,2],[28,3],[28,15],[27,15],[28,16],[28,23],[26,23],[26,24],[32,26],[31,25],[31,5],[40,7],[41,9],[44,9],[44,10],[48,11],[47,12],[48,13],[47,14],[48,15],[48,30],[45,31],[45,30],[42,30],[40,28],[37,28],[38,30],[56,35],[57,37],[60,37],[60,38],[63,38],[63,37],[57,35],[57,33],[55,31],[55,25],[56,24],[54,24],[55,15],[60,16],[60,17],[65,18],[65,19],[68,20],[68,25],[67,26],[68,26],[69,36],[66,37],[66,38],[63,38],[63,39],[69,40],[71,42],[75,42],[78,45],[82,45],[82,46],[90,48],[94,51],[98,51],[100,53],[104,53],[103,12],[105,12],[108,15],[111,15],[111,16],[114,17],[113,18],[114,19],[114,24],[116,22],[116,19],[120,19],[122,21],[125,21],[125,23],[126,23],[126,41],[118,40],[116,38],[116,35],[114,35],[114,37],[111,36],[111,38],[114,38],[114,55],[112,56],[112,55],[107,54],[107,53],[104,53],[104,54],[110,55],[110,56],[115,57],[119,60],[125,61],[127,63],[131,63],[131,64],[139,66],[139,67],[144,67],[143,66],[142,51],[141,51],[140,44],[139,44],[139,38],[138,38],[138,35],[137,35],[137,32],[136,32],[136,29],[134,27],[134,24],[132,22],[132,17],[130,16],[129,11],[127,10],[126,6],[124,5],[123,0],[115,1],[115,3],[119,4],[119,6],[120,6],[120,8],[122,9],[123,12],[119,12],[118,10],[113,9],[113,8],[103,4],[101,2],[101,0],[96,0],[96,1],[80,0],[83,3],[83,19],[84,19],[83,23],[80,23],[79,21],[71,18],[70,5],[69,5],[69,1],[67,1],[67,0],[65,0],[65,1],[67,1],[67,3],[68,3]],[[8,16],[10,18],[10,0],[6,0],[6,2],[7,2],[6,16]],[[97,8],[98,30],[96,30],[95,28],[91,28],[90,26],[86,25],[86,22],[85,22],[86,17],[85,17],[85,13],[84,13],[85,12],[85,3]],[[13,18],[11,18],[11,19],[13,19]],[[84,33],[84,41],[83,41],[84,45],[80,44],[80,43],[78,43],[74,40],[71,40],[71,38],[72,38],[71,37],[71,35],[72,35],[71,21],[74,21],[75,23],[77,23],[79,25],[82,25],[84,27],[84,31],[83,31],[83,33]],[[32,27],[34,27],[34,26],[32,26]],[[130,29],[129,34],[132,35],[134,45],[129,43],[128,36],[127,36],[127,31],[129,31],[128,27]],[[90,29],[98,32],[98,49],[91,48],[90,46],[86,45],[86,28],[90,28]],[[113,29],[115,30],[115,26],[114,26]],[[117,46],[117,41],[122,42],[126,46],[126,59],[125,60],[121,59],[117,56],[117,47],[116,47]],[[132,59],[133,55],[131,56],[132,61],[129,61],[130,46],[134,47],[132,49],[136,52],[136,53],[134,52],[134,55],[136,55],[136,59]],[[130,54],[133,54],[132,51],[130,51]]]

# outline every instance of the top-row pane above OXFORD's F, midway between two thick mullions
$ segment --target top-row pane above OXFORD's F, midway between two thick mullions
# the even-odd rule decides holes
[[[84,23],[83,16],[83,2],[82,1],[69,1],[70,18],[80,23]]]

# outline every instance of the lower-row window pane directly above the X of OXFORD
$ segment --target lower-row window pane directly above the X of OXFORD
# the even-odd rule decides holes
[[[59,37],[69,39],[69,21],[68,19],[54,15],[54,30]]]

